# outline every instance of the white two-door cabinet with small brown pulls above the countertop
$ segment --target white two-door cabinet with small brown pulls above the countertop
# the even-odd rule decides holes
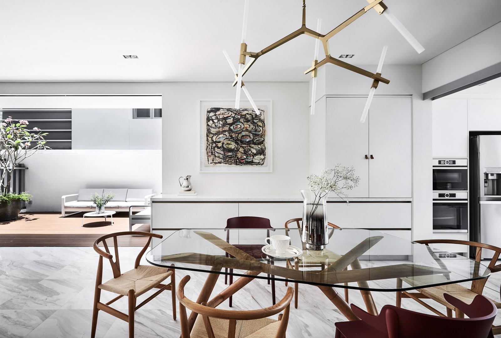
[[[349,197],[412,197],[410,97],[375,97],[365,123],[366,99],[327,98],[326,164],[354,166],[360,176]]]

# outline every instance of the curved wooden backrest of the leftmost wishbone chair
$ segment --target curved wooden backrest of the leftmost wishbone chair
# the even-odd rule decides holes
[[[155,238],[162,238],[162,235],[158,235],[156,233],[150,233],[150,232],[142,232],[142,231],[122,231],[122,232],[114,232],[110,233],[104,236],[99,237],[96,239],[94,242],[94,250],[99,253],[99,269],[102,270],[103,267],[103,257],[107,258],[110,261],[111,264],[111,269],[113,271],[113,278],[119,277],[122,273],[120,272],[120,259],[118,256],[118,241],[117,237],[119,236],[126,236],[126,235],[139,235],[139,236],[148,236],[148,240],[146,241],[146,244],[144,247],[141,249],[139,254],[136,257],[136,261],[134,263],[134,268],[137,268],[139,266],[139,263],[141,262],[141,257],[143,254],[146,252],[146,249],[150,245],[151,242],[151,237]],[[115,261],[113,261],[113,255],[110,253],[110,249],[108,247],[107,239],[113,238],[113,247],[115,248]],[[99,248],[99,244],[103,243],[104,249],[106,250],[103,251]],[[99,277],[99,271],[98,271],[98,277]]]

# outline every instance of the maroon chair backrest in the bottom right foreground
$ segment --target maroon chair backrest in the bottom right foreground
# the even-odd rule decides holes
[[[491,325],[497,313],[495,305],[482,295],[471,304],[444,294],[445,299],[467,314],[469,318],[439,317],[385,305],[380,316],[386,321],[389,338],[487,338],[491,337]]]

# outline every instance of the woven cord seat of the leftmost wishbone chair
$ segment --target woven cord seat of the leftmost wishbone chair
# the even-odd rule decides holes
[[[135,291],[135,296],[151,290],[172,274],[168,268],[159,266],[138,265],[136,269],[124,272],[121,276],[100,284],[100,289],[127,295],[129,290]]]

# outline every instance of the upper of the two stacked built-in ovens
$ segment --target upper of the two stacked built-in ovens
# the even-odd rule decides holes
[[[467,159],[433,159],[433,191],[467,191]]]

